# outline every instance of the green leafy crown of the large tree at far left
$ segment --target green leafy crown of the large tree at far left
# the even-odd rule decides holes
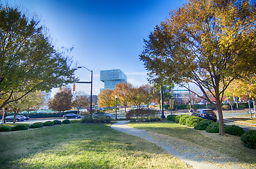
[[[0,109],[30,92],[76,81],[69,56],[54,49],[35,16],[0,5],[0,32]]]

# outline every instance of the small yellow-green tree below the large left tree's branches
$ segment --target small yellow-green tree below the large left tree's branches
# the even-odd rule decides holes
[[[21,97],[21,95],[23,95],[21,92],[14,93],[11,99],[16,101],[13,101],[8,104],[8,107],[9,107],[8,109],[14,112],[13,123],[16,122],[16,115],[19,112],[21,111],[29,112],[28,108],[37,108],[37,106],[40,106],[44,100],[43,94],[40,91],[30,92],[26,96],[23,96],[23,98],[17,100],[16,98]],[[4,120],[4,123],[5,123],[5,120]]]

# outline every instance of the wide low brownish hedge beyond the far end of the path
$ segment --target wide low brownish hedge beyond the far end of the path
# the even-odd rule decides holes
[[[151,109],[141,109],[141,108],[137,108],[137,109],[133,109],[131,111],[128,111],[125,115],[125,118],[127,120],[131,120],[131,119],[144,119],[144,120],[149,120],[151,118],[159,118],[159,112],[158,111],[154,111]]]

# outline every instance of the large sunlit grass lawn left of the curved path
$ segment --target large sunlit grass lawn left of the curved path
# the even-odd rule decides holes
[[[107,124],[0,133],[0,168],[187,168],[158,146]]]

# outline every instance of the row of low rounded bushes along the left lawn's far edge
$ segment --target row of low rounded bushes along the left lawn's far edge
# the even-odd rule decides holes
[[[16,126],[6,126],[0,125],[0,132],[11,132],[11,131],[18,131],[18,130],[28,130],[28,128],[40,128],[43,126],[52,126],[52,125],[62,125],[62,124],[69,124],[69,123],[78,123],[78,120],[54,120],[54,121],[46,121],[45,123],[33,123],[32,125],[16,125]]]

